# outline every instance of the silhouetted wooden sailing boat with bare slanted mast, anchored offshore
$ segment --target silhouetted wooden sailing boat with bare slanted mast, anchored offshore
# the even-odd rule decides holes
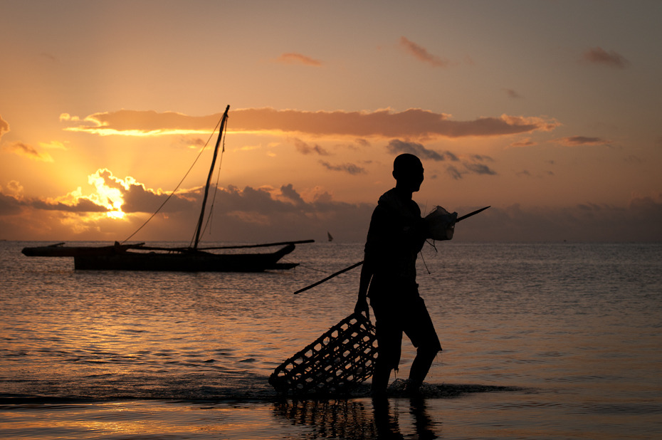
[[[43,257],[73,257],[76,270],[100,271],[186,271],[186,272],[262,272],[268,270],[285,270],[298,266],[298,263],[279,263],[280,259],[294,251],[295,244],[311,243],[314,240],[284,241],[280,243],[264,243],[243,246],[199,247],[202,223],[205,217],[207,196],[211,176],[214,174],[216,157],[228,119],[228,105],[223,117],[219,138],[214,147],[214,157],[207,176],[202,199],[202,208],[195,230],[193,246],[160,247],[145,246],[145,243],[122,244],[115,241],[112,246],[64,246],[56,243],[50,246],[23,248],[26,256]],[[214,253],[212,250],[228,250],[242,248],[258,248],[267,246],[282,246],[276,251],[267,253]]]

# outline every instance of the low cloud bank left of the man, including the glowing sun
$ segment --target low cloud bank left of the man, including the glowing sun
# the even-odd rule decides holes
[[[122,240],[167,198],[160,190],[148,189],[131,177],[120,179],[107,169],[90,174],[90,184],[97,189],[93,194],[84,195],[79,188],[55,199],[22,199],[8,194],[19,190],[18,182],[12,183],[11,189],[7,187],[7,191],[0,188],[0,230],[24,239]],[[136,239],[189,240],[202,193],[203,189],[196,187],[174,194],[159,214],[140,229]],[[212,204],[213,193],[216,194]],[[121,209],[127,215],[110,215],[115,209],[112,198],[122,201]],[[292,184],[280,189],[212,187],[209,202],[207,206],[214,215],[206,239],[248,242],[309,239],[314,234],[326,234],[330,226],[342,228],[345,232],[340,236],[345,238],[364,239],[373,207],[333,201],[328,192],[320,189],[312,191],[305,200]],[[357,219],[358,228],[354,224]]]

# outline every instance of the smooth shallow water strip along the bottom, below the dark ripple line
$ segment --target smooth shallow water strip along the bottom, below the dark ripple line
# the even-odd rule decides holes
[[[572,404],[544,392],[456,399],[0,405],[3,439],[653,439],[655,404]]]

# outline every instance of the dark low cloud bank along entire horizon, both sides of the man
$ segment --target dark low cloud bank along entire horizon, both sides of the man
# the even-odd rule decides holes
[[[0,226],[3,239],[43,240],[121,240],[142,224],[164,198],[141,185],[125,192],[124,211],[132,216],[132,224],[104,219],[89,231],[75,235],[61,226],[29,231],[26,218],[39,219],[48,215],[76,216],[100,212],[104,208],[89,200],[68,206],[32,199],[20,200],[0,194]],[[176,194],[164,210],[142,229],[135,240],[189,240],[198,216],[201,190]],[[280,188],[277,196],[264,189],[228,187],[219,189],[214,201],[209,241],[264,242],[280,240],[323,240],[331,231],[337,241],[362,242],[374,204],[348,204],[333,201],[329,194],[320,194],[314,201],[305,201],[292,187]],[[482,206],[446,206],[466,214]],[[40,214],[41,213],[41,214]],[[70,217],[69,217],[70,218]],[[37,220],[35,220],[37,221]],[[454,241],[662,241],[662,194],[657,199],[640,197],[626,207],[604,204],[581,204],[562,209],[531,209],[520,205],[493,206],[471,221],[459,224]],[[120,229],[119,225],[123,225]]]

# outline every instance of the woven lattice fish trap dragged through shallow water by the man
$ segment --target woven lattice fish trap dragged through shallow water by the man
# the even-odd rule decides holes
[[[285,394],[345,394],[372,376],[376,358],[374,325],[353,313],[285,360],[269,383]]]

